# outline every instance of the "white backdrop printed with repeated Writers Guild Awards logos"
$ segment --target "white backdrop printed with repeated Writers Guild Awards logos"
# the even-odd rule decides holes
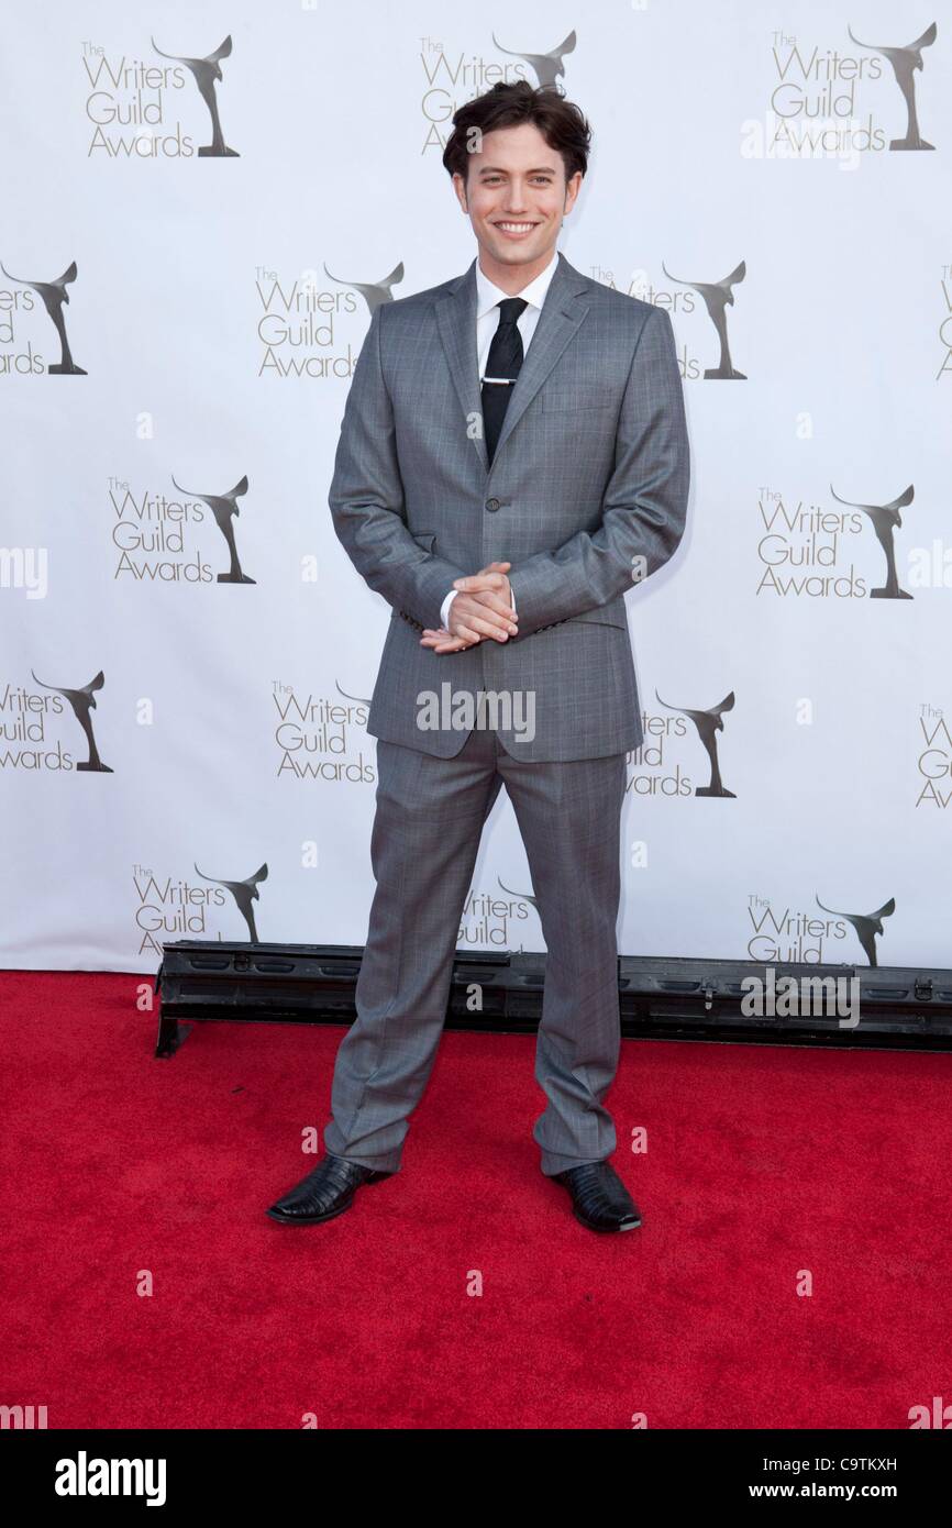
[[[561,249],[665,306],[689,529],[628,596],[619,949],[952,964],[952,17],[20,6],[0,92],[0,961],[362,944],[390,610],[327,489],[370,303],[475,255],[440,154],[556,79]],[[553,827],[555,830],[555,827]],[[503,793],[461,949],[544,949]]]

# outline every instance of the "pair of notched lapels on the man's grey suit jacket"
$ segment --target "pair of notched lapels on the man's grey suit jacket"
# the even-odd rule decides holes
[[[446,361],[468,425],[468,434],[478,451],[480,463],[486,472],[489,471],[489,458],[483,431],[480,428],[474,434],[471,423],[474,419],[478,419],[481,423],[483,417],[475,336],[475,266],[474,260],[469,270],[439,299],[436,312]],[[588,304],[584,299],[585,289],[585,278],[575,266],[568,264],[565,255],[559,251],[558,264],[553,270],[546,301],[542,303],[542,312],[538,316],[523,368],[512,388],[506,419],[503,420],[503,429],[500,431],[492,458],[494,466],[500,460],[500,452],[506,440],[518,425],[529,403],[532,403],[532,399],[562,354],[562,350],[582,324],[588,312]]]

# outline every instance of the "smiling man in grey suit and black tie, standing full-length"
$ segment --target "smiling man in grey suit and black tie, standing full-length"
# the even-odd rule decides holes
[[[443,162],[477,260],[377,307],[355,368],[330,509],[393,607],[367,723],[376,894],[327,1155],[267,1212],[284,1224],[332,1219],[400,1167],[503,782],[549,952],[541,1169],[591,1230],[640,1224],[604,1105],[625,753],[643,738],[623,594],[682,539],[689,457],[668,315],[556,251],[588,139],[555,89],[463,105]]]

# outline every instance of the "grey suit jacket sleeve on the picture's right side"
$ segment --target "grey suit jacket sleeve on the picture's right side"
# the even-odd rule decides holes
[[[512,568],[520,634],[607,605],[663,567],[685,532],[691,465],[685,393],[665,309],[648,313],[619,414],[602,524]]]

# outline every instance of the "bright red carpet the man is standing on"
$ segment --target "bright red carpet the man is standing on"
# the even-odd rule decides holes
[[[0,1403],[50,1427],[908,1429],[952,1400],[952,1057],[625,1042],[613,1163],[645,1224],[596,1236],[538,1170],[533,1042],[446,1034],[402,1172],[289,1229],[264,1209],[315,1164],[342,1030],[196,1025],[160,1062],[136,984],[0,973]]]

